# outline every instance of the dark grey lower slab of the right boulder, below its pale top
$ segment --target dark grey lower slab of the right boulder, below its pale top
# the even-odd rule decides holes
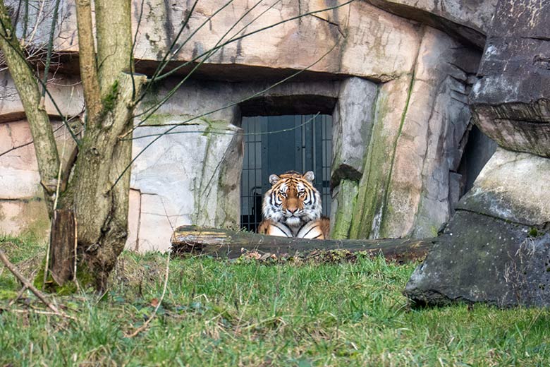
[[[419,306],[550,306],[550,234],[460,210],[405,287]]]

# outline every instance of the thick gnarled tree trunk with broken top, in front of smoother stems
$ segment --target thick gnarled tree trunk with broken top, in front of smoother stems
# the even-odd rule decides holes
[[[108,96],[114,106],[82,139],[73,178],[59,203],[75,212],[78,268],[98,291],[105,289],[128,236],[130,169],[123,172],[132,158],[132,140],[119,136],[133,127],[133,87],[139,92],[145,81],[145,76],[121,73],[114,82]]]

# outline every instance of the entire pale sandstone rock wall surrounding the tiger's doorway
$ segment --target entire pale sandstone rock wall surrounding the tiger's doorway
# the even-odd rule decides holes
[[[413,20],[388,12],[406,16],[400,11],[413,5],[408,0],[371,2],[376,6],[354,1],[226,44],[205,60],[198,78],[178,87],[154,112],[190,68],[148,87],[149,97],[139,107],[145,114],[135,119],[140,126],[133,140],[136,160],[127,248],[165,250],[171,228],[183,224],[238,226],[241,116],[333,114],[331,185],[334,233],[339,238],[432,236],[448,220],[450,203],[458,200],[464,186],[458,167],[470,124],[465,96],[480,56],[459,39],[470,33],[482,37],[494,1],[478,1],[479,14],[472,13],[471,1],[445,1],[445,8],[443,2],[417,1],[419,10],[410,13]],[[141,4],[134,1],[135,29]],[[135,58],[140,61],[138,68],[151,75],[188,15],[189,4],[158,0],[144,4]],[[222,5],[199,1],[189,27],[176,41],[181,49],[165,71],[216,47],[227,31],[225,40],[326,4],[283,1],[271,8],[271,4],[251,8],[247,1],[236,0],[209,20]],[[62,8],[56,49],[77,52],[74,6],[63,1]],[[418,23],[431,15],[446,32]],[[195,30],[193,40],[184,44]],[[293,83],[269,88],[304,68],[307,71]],[[60,78],[58,84],[64,86],[54,92],[61,112],[80,113],[81,91],[71,86],[75,77]],[[10,83],[5,78],[5,90]],[[149,109],[149,118],[142,121]],[[59,114],[49,105],[47,111]],[[0,124],[4,129],[0,139],[11,139],[6,129],[22,116],[17,98],[0,102],[0,123],[6,122]],[[5,167],[10,164],[14,163]],[[39,195],[30,157],[13,177],[5,181],[6,189],[0,182],[0,198]],[[20,192],[11,190],[17,179]]]

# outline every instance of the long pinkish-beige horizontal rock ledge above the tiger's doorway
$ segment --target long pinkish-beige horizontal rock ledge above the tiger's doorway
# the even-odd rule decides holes
[[[338,0],[330,4],[344,3],[346,1]],[[134,29],[138,29],[141,4],[142,1],[133,1]],[[285,1],[274,6],[262,2],[252,7],[248,1],[238,0],[216,13],[223,5],[219,1],[199,1],[188,27],[176,42],[181,49],[169,68],[205,54],[219,46],[222,38],[226,41],[240,37],[300,14],[329,7],[325,1]],[[152,0],[144,6],[135,59],[145,61],[138,63],[138,68],[149,69],[154,68],[169,49],[192,3]],[[71,1],[63,1],[62,8],[67,16],[56,49],[78,52],[75,8]],[[245,13],[243,20],[234,26]],[[211,16],[213,18],[209,19]],[[309,70],[315,72],[390,80],[410,69],[419,42],[417,29],[415,22],[382,11],[365,1],[354,1],[226,44],[209,56],[200,73],[218,80],[264,80],[266,76],[281,76],[287,73],[286,69],[300,70],[310,66]],[[184,44],[195,30],[198,31],[193,39]],[[346,42],[343,42],[344,35]],[[334,44],[334,50],[316,63]]]

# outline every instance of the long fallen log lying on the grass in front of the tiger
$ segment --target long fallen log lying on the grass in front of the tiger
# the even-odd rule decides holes
[[[243,252],[257,251],[281,255],[307,255],[313,251],[344,250],[383,254],[386,259],[404,262],[422,259],[439,241],[432,239],[317,240],[265,236],[244,231],[196,226],[176,228],[172,234],[173,255],[208,254],[216,258],[238,258]]]

